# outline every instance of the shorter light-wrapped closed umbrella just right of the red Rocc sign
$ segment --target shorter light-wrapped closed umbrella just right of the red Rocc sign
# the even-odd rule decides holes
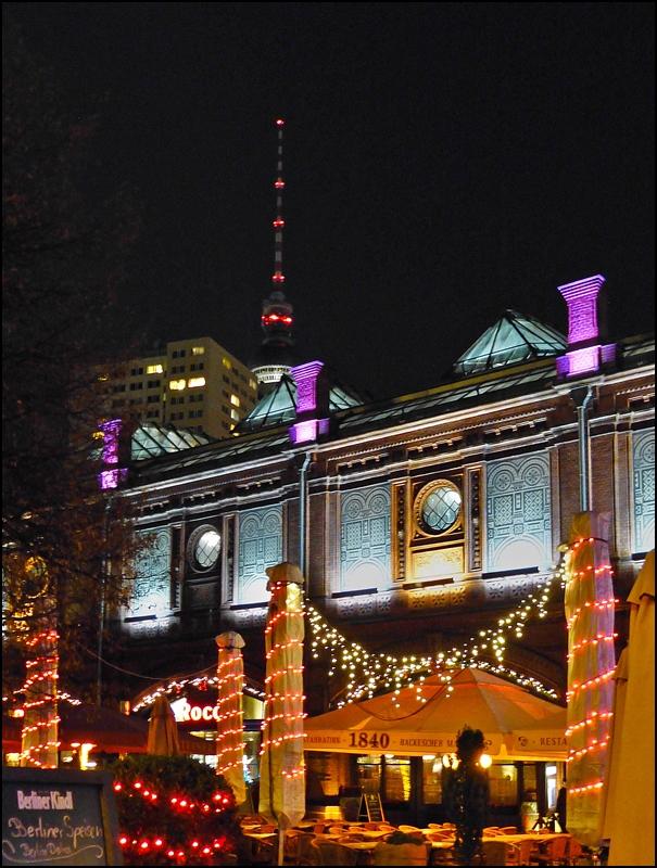
[[[235,801],[241,805],[247,799],[244,783],[243,710],[244,640],[239,633],[229,630],[215,639],[218,646],[217,664],[217,775],[223,775],[232,788]]]

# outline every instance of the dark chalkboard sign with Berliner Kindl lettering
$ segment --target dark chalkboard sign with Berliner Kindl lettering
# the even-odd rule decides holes
[[[123,865],[112,775],[4,767],[2,865]]]

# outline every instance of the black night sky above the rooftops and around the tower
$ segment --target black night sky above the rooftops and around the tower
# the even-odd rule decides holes
[[[143,202],[126,306],[248,361],[274,266],[304,360],[376,397],[435,385],[502,311],[566,331],[607,278],[654,329],[653,3],[8,3],[99,189]]]

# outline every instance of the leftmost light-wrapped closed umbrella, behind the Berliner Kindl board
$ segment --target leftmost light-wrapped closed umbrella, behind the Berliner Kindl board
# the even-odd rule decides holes
[[[21,765],[56,768],[59,765],[59,723],[56,699],[59,678],[58,631],[48,596],[48,572],[40,558],[29,558],[26,582],[34,589],[30,637],[25,647],[28,659],[23,691]]]

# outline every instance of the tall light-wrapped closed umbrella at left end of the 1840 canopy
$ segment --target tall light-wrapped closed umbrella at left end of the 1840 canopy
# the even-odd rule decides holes
[[[303,575],[290,563],[270,566],[266,573],[271,597],[265,628],[267,698],[258,809],[276,821],[282,842],[282,830],[296,826],[305,813]]]

